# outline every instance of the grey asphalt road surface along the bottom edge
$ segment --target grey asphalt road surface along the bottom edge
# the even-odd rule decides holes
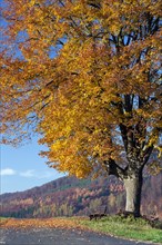
[[[133,241],[120,239],[92,232],[32,228],[0,229],[0,245],[149,245]]]

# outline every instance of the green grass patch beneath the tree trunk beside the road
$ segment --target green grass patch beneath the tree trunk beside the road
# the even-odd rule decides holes
[[[153,228],[142,219],[110,216],[99,220],[80,219],[79,223],[91,231],[102,232],[135,241],[148,241],[162,244],[162,229]]]

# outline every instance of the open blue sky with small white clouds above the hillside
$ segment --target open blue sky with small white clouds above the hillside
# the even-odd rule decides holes
[[[1,194],[26,190],[63,176],[48,167],[47,159],[39,156],[41,149],[36,138],[19,148],[1,145]]]

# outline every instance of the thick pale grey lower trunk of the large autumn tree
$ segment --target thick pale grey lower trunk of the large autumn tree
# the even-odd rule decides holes
[[[133,214],[134,217],[140,217],[142,173],[130,175],[123,182],[126,190],[125,212]]]

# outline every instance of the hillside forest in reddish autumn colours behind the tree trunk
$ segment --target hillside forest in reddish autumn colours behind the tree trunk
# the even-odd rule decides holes
[[[162,218],[162,174],[145,174],[141,213]],[[32,189],[3,194],[0,196],[0,216],[10,217],[54,217],[89,215],[103,212],[108,214],[124,209],[125,193],[123,184],[117,178],[100,177],[95,180],[62,177]]]

